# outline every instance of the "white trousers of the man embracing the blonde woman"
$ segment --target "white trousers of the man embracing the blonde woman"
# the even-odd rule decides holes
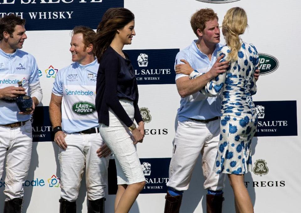
[[[167,186],[178,191],[187,190],[193,168],[198,156],[202,154],[204,189],[223,189],[224,174],[216,174],[213,171],[219,144],[219,124],[219,119],[209,123],[178,121]]]

